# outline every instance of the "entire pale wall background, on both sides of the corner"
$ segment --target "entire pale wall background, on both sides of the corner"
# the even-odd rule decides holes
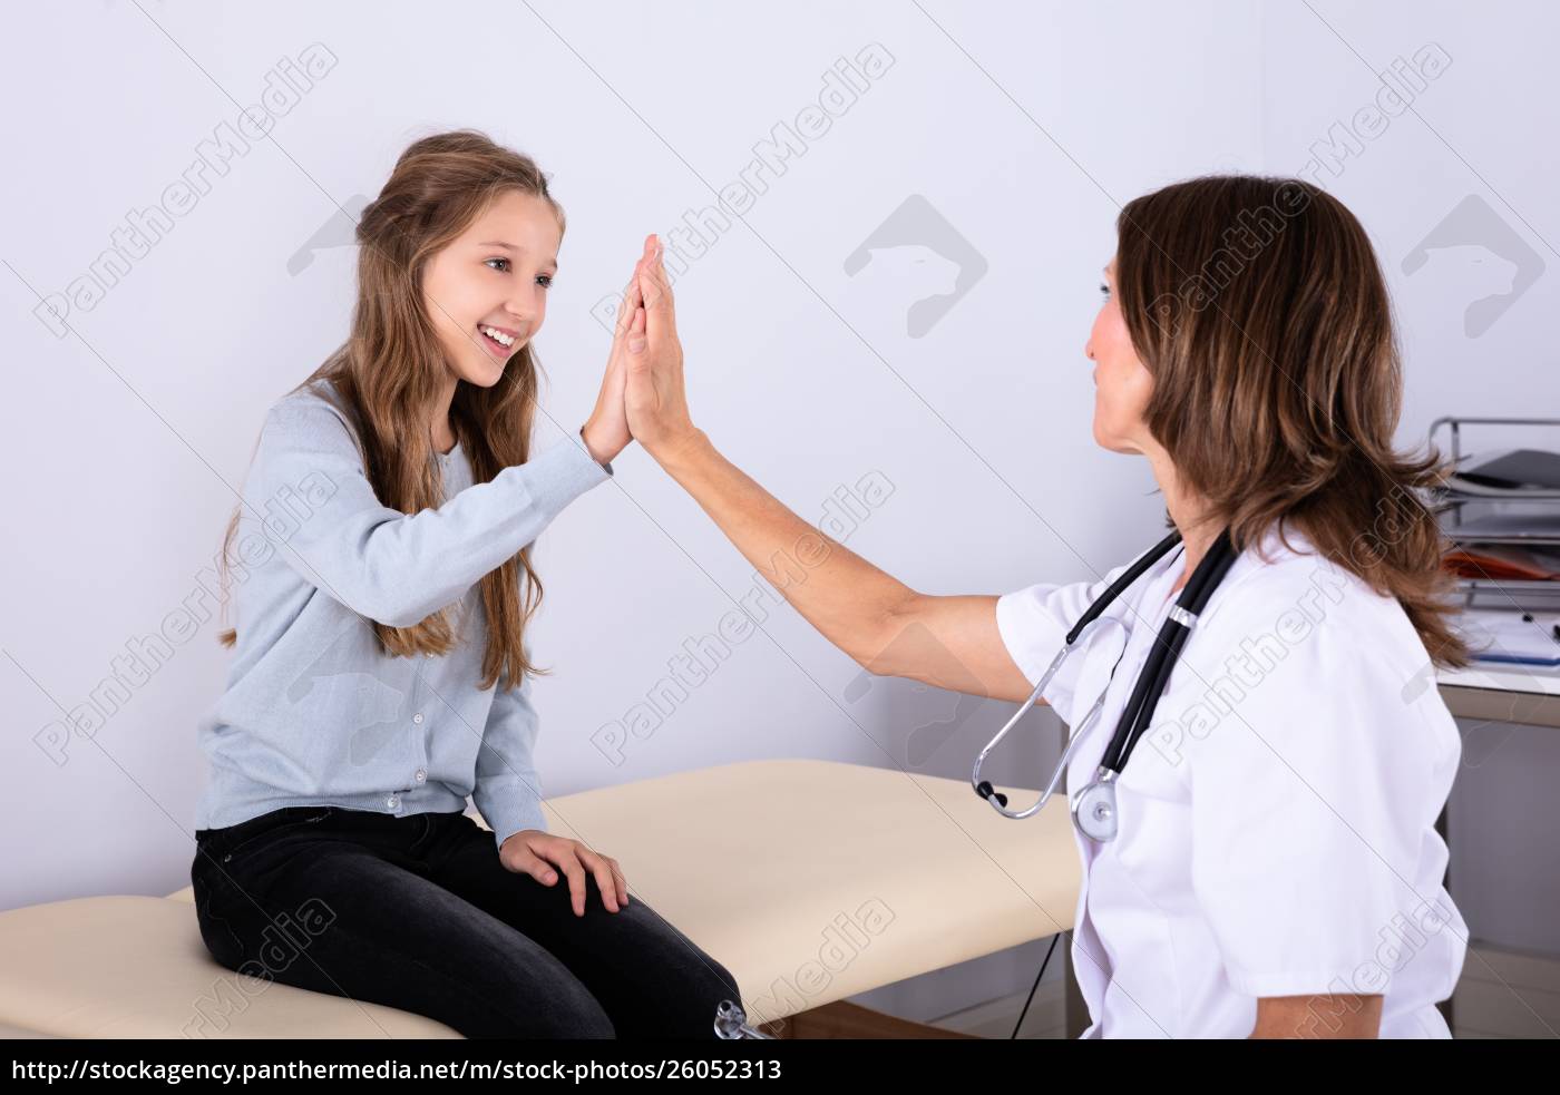
[[[1360,215],[1402,326],[1404,445],[1449,412],[1560,412],[1549,5],[81,0],[12,22],[0,908],[187,883],[195,724],[229,657],[201,590],[265,409],[345,337],[346,217],[437,128],[530,153],[568,211],[538,337],[548,445],[590,410],[608,345],[593,309],[644,234],[713,204],[819,105],[836,61],[891,56],[758,175],[744,218],[708,232],[677,276],[679,318],[696,420],[727,455],[813,521],[836,490],[885,477],[892,493],[847,543],[925,591],[1090,577],[1158,535],[1147,465],[1092,443],[1083,345],[1119,206],[1178,178],[1299,173]],[[1377,73],[1395,84],[1431,47],[1446,58],[1434,80],[1395,114],[1360,114],[1382,101]],[[310,58],[328,72],[284,94]],[[203,192],[170,192],[254,103],[265,136],[206,170]],[[181,200],[148,251],[105,260],[137,212]],[[75,296],[86,278],[100,299]],[[50,295],[75,296],[62,321]],[[863,682],[783,605],[618,763],[593,744],[755,583],[652,460],[630,449],[615,466],[538,548],[549,796],[761,757],[967,772],[1006,708]],[[159,638],[170,657],[136,675],[133,652]],[[103,713],[94,735],[39,744],[84,703]],[[933,722],[950,730],[911,755]],[[1053,742],[1000,775],[1033,781]],[[1552,742],[1509,735],[1473,783]],[[1527,786],[1530,831],[1554,831]],[[1502,914],[1541,875],[1519,866],[1524,838],[1476,824],[1491,794],[1457,796],[1466,855],[1510,866],[1457,894],[1476,933],[1560,948],[1540,923],[1552,933],[1552,889],[1533,920]],[[1030,958],[875,1003],[938,1014],[1026,987]]]

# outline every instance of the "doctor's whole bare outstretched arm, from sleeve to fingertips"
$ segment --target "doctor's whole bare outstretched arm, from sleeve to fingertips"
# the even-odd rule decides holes
[[[721,455],[688,413],[675,307],[655,237],[646,240],[638,281],[643,307],[629,320],[624,398],[635,440],[760,571],[777,555],[805,555],[807,580],[783,583],[780,593],[864,669],[1022,702],[1033,685],[1002,640],[995,596],[911,590],[810,526]]]

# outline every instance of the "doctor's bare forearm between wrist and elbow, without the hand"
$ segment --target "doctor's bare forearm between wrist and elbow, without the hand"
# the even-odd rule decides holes
[[[654,455],[824,638],[863,664],[881,652],[914,590],[786,509],[704,431]]]

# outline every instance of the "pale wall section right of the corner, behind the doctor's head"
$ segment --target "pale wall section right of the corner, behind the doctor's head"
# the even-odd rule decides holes
[[[1407,363],[1399,440],[1423,441],[1449,413],[1560,416],[1560,95],[1544,75],[1560,11],[1515,0],[1264,11],[1264,159],[1326,186],[1371,234]],[[1418,70],[1427,47],[1446,58],[1440,75],[1396,117],[1359,115],[1382,94],[1374,73],[1396,83],[1396,62]],[[1360,136],[1338,142],[1340,123]],[[1328,156],[1335,144],[1346,154]],[[1470,320],[1484,298],[1493,307]],[[1554,431],[1524,437],[1557,446]]]

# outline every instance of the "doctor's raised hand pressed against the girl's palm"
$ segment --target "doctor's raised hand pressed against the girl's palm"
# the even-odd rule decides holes
[[[643,306],[633,312],[626,342],[629,377],[624,407],[629,432],[665,463],[668,454],[696,441],[699,431],[688,416],[672,287],[655,236],[644,239],[635,276]]]

